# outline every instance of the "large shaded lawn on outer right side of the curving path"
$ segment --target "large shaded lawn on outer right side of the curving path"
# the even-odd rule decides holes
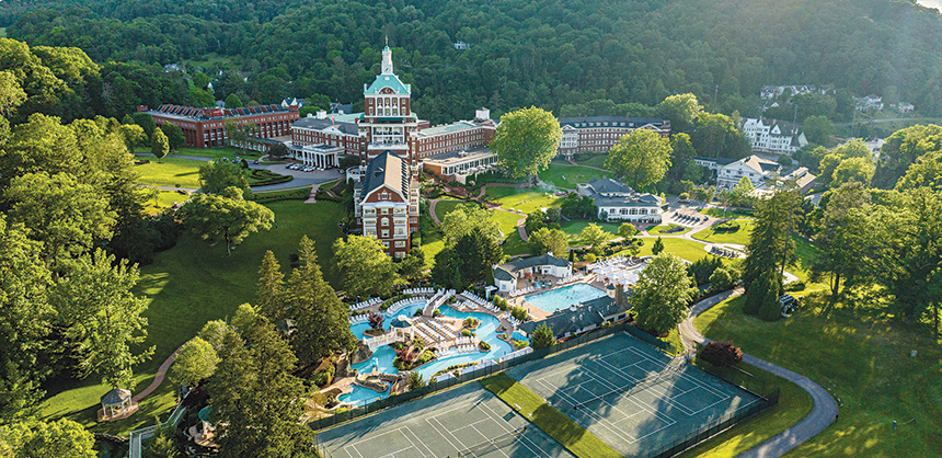
[[[807,376],[840,400],[840,419],[792,455],[888,458],[942,450],[942,351],[923,324],[887,319],[863,301],[827,316],[808,306],[770,323],[744,314],[742,298],[713,307],[696,324],[710,339],[733,340],[746,353]]]

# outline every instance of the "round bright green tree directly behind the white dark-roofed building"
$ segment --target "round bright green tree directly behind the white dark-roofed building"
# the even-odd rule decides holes
[[[608,152],[605,168],[635,190],[646,188],[664,179],[670,167],[670,140],[654,130],[637,129],[621,137]]]

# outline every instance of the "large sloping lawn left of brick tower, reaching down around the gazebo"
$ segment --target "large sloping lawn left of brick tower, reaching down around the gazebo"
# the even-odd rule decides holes
[[[156,345],[157,351],[153,358],[135,368],[138,380],[135,391],[150,385],[158,366],[193,337],[205,322],[227,318],[240,304],[254,300],[259,265],[265,250],[275,253],[287,273],[288,256],[296,252],[301,236],[307,234],[315,242],[325,278],[337,286],[338,273],[331,245],[341,237],[336,225],[343,217],[341,205],[294,201],[267,206],[275,211],[278,228],[250,236],[231,256],[226,255],[221,243],[210,247],[186,234],[176,247],[159,253],[153,264],[141,268],[137,293],[145,295],[149,302],[145,312],[148,319],[146,345]],[[50,383],[43,416],[67,416],[92,427],[93,432],[127,435],[134,428],[150,424],[156,414],[165,415],[173,407],[172,383],[164,381],[130,419],[96,424],[99,398],[108,390],[100,381],[97,376],[92,376],[82,381]]]

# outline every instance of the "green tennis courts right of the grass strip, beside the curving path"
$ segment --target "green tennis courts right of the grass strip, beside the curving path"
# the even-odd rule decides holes
[[[509,369],[625,456],[648,456],[759,398],[618,333]]]

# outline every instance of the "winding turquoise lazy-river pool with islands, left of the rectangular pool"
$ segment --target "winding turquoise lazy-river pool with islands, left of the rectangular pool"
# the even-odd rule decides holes
[[[411,317],[412,313],[415,313],[415,310],[418,310],[421,305],[410,306],[406,309],[403,309],[397,316],[404,314],[406,317]],[[501,327],[501,320],[496,319],[494,316],[489,313],[481,312],[462,312],[455,310],[455,308],[450,306],[441,306],[438,308],[441,311],[443,316],[466,319],[468,317],[473,317],[481,321],[481,324],[478,325],[478,329],[474,332],[478,334],[478,339],[482,342],[487,342],[491,344],[491,351],[487,353],[482,352],[469,352],[461,353],[457,355],[446,356],[444,358],[436,358],[435,360],[421,366],[417,371],[422,374],[422,377],[427,381],[435,373],[447,369],[449,366],[455,366],[458,364],[467,364],[472,362],[481,362],[481,360],[491,360],[497,359],[501,356],[504,356],[512,352],[510,344],[505,342],[504,340],[497,337],[498,333],[504,331],[498,331]],[[389,319],[390,317],[387,317]],[[351,327],[351,331],[357,339],[363,339],[364,330],[369,328],[369,323],[358,323]],[[386,328],[388,330],[388,327]],[[380,373],[386,374],[399,374],[399,370],[392,366],[392,360],[395,359],[395,352],[389,345],[383,345],[374,352],[372,357],[363,362],[353,365],[354,369],[357,369],[360,374],[372,371],[372,368],[376,367]],[[364,405],[368,404],[377,399],[386,398],[389,396],[389,390],[384,393],[378,393],[369,388],[364,388],[357,385],[353,386],[353,392],[341,396],[340,401],[345,402],[352,405]]]

